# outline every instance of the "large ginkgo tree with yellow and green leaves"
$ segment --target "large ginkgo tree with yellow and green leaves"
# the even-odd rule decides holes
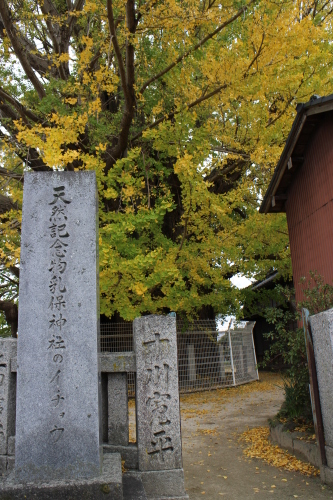
[[[0,310],[15,330],[24,172],[95,170],[101,313],[237,307],[290,274],[258,206],[297,101],[332,87],[324,0],[1,0]],[[6,312],[7,311],[7,312]]]

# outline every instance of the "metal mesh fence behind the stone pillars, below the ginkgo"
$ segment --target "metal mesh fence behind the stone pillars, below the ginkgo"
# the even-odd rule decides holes
[[[177,319],[178,377],[181,393],[228,387],[257,380],[254,322],[221,332],[215,321]],[[133,350],[132,323],[101,324],[101,351]],[[135,373],[128,374],[129,396],[135,394]]]

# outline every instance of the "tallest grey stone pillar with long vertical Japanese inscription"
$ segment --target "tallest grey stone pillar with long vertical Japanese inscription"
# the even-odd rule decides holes
[[[100,474],[94,172],[24,176],[16,478]]]

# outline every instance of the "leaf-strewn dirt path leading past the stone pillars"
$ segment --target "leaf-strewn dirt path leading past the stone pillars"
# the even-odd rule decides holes
[[[333,499],[318,477],[288,472],[248,459],[238,439],[248,428],[267,426],[283,401],[279,380],[181,397],[183,465],[190,500]]]

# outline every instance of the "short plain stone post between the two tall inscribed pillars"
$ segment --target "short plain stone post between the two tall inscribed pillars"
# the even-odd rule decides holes
[[[127,446],[129,440],[127,373],[108,374],[108,443]]]

